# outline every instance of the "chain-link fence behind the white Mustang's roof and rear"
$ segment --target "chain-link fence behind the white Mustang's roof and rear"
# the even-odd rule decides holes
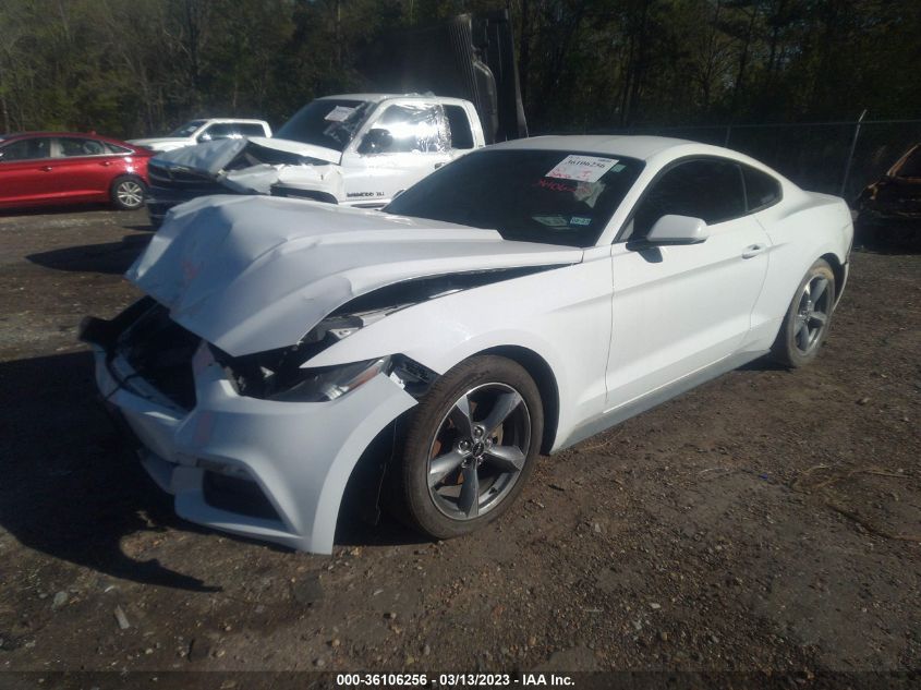
[[[921,120],[642,126],[607,133],[658,134],[727,146],[767,164],[803,189],[853,203],[864,186],[921,142]]]

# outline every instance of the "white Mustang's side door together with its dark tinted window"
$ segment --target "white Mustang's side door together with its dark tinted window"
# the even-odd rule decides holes
[[[640,199],[625,238],[611,247],[608,410],[728,358],[741,344],[769,244],[746,209],[741,169],[718,158],[679,162]],[[710,237],[643,249],[642,238],[668,214],[702,218]]]

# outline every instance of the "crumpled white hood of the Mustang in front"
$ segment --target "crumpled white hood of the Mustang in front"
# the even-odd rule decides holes
[[[574,264],[582,250],[495,230],[259,196],[210,196],[167,216],[125,274],[233,356],[296,343],[351,299],[452,273]]]

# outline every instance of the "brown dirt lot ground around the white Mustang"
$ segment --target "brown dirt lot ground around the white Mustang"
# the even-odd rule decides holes
[[[0,216],[0,669],[919,667],[921,255],[856,253],[813,366],[543,458],[473,537],[388,522],[330,558],[175,518],[90,402],[76,325],[134,299],[149,237]]]

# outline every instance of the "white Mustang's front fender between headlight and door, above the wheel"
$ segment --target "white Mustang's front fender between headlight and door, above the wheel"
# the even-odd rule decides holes
[[[305,367],[401,353],[437,374],[484,350],[530,350],[559,391],[557,438],[602,411],[611,334],[605,257],[432,299],[364,327]]]

